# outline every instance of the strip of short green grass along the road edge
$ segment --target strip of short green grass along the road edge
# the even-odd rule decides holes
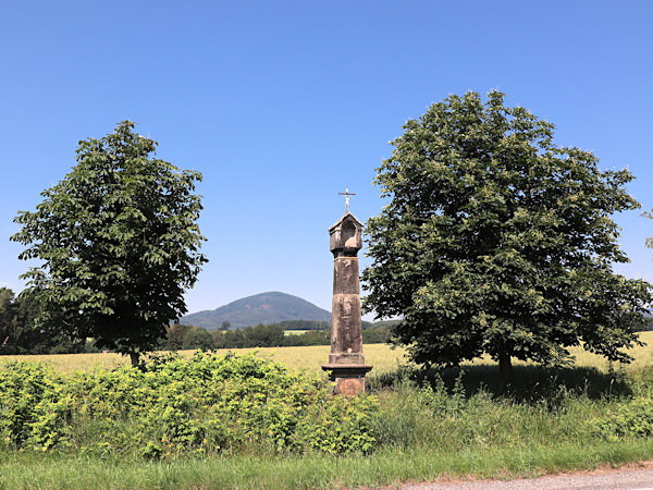
[[[232,456],[173,462],[12,455],[0,461],[0,488],[358,488],[452,478],[537,477],[559,470],[653,458],[653,441],[460,451],[387,449],[368,457]]]

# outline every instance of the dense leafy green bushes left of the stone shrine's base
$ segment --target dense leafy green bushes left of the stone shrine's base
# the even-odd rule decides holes
[[[372,396],[254,354],[156,357],[140,369],[61,377],[37,364],[0,371],[2,444],[169,458],[220,452],[369,452]]]

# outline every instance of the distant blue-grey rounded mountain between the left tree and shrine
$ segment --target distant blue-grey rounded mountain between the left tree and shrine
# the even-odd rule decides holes
[[[318,320],[331,322],[331,313],[292,294],[272,291],[236,299],[211,310],[186,315],[181,323],[218,330],[224,321],[232,329],[284,320]]]

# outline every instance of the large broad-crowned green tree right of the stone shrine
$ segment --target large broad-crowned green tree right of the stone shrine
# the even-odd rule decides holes
[[[451,96],[404,126],[375,184],[390,203],[367,224],[367,311],[412,359],[455,365],[488,353],[569,359],[567,347],[628,362],[651,286],[613,272],[628,258],[614,212],[639,207],[626,170],[553,143],[554,125],[492,91]]]

